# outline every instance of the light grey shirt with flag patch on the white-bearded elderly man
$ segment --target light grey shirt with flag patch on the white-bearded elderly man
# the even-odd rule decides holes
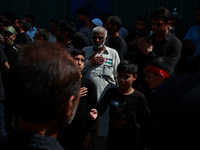
[[[95,53],[93,46],[83,48],[85,52],[85,66],[83,75],[92,80],[97,88],[97,101],[100,102],[105,92],[117,86],[117,66],[120,62],[119,55],[115,49],[105,47],[105,51],[101,54],[104,57],[104,63],[101,65],[92,66],[89,62],[90,57]],[[104,115],[99,117],[99,129],[97,135],[107,136],[109,130],[109,108],[105,111]]]

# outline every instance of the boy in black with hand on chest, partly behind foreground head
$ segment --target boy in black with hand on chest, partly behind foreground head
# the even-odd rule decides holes
[[[85,52],[80,49],[70,51],[81,72],[85,63]],[[97,120],[90,118],[90,110],[97,104],[95,84],[81,77],[80,101],[73,121],[58,132],[57,139],[65,149],[88,150],[93,134],[97,132]]]

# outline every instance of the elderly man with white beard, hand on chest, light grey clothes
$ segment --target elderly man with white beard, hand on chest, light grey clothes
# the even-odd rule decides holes
[[[95,27],[92,31],[93,46],[83,48],[85,51],[85,66],[82,74],[92,80],[97,88],[97,101],[101,101],[105,92],[116,87],[117,66],[120,62],[119,55],[115,49],[105,46],[107,30],[104,27]],[[105,149],[109,130],[109,108],[103,116],[99,117],[99,128],[94,135],[93,149]]]

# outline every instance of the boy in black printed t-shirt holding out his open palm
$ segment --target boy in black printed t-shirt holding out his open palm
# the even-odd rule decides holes
[[[150,112],[145,96],[132,87],[137,79],[137,65],[124,60],[117,72],[119,87],[106,92],[96,109],[91,110],[91,118],[103,115],[109,105],[108,149],[144,150]]]

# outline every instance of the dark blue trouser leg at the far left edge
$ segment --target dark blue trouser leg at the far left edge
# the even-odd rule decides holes
[[[0,137],[6,136],[5,122],[4,122],[4,103],[0,101]]]

